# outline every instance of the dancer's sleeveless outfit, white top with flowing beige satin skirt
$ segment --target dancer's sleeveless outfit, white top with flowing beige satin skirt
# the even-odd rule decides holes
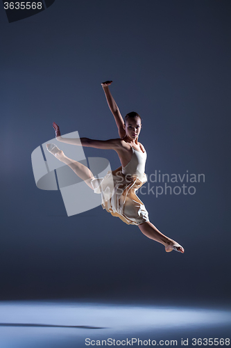
[[[101,193],[103,209],[129,225],[149,221],[144,203],[135,193],[147,181],[144,173],[146,157],[146,151],[132,148],[132,158],[127,166],[109,171],[105,177],[91,182],[94,192]]]

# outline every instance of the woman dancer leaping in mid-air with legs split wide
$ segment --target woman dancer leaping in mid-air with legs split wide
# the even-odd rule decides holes
[[[180,244],[163,235],[149,221],[144,203],[139,200],[135,193],[146,182],[146,174],[144,173],[146,150],[138,142],[142,127],[141,117],[138,113],[131,112],[123,120],[119,108],[110,93],[110,84],[112,84],[112,81],[105,81],[101,85],[103,86],[108,106],[117,123],[119,139],[107,141],[88,138],[69,139],[61,136],[60,128],[55,122],[53,122],[53,128],[55,129],[56,139],[61,143],[115,150],[121,161],[121,167],[117,168],[116,171],[108,172],[105,177],[97,179],[89,168],[65,156],[64,152],[56,145],[46,144],[46,148],[57,159],[67,164],[78,177],[84,180],[91,189],[94,189],[95,193],[101,193],[102,206],[112,216],[118,216],[123,222],[138,226],[139,230],[146,237],[163,244],[166,252],[175,250],[184,253],[184,248]]]

